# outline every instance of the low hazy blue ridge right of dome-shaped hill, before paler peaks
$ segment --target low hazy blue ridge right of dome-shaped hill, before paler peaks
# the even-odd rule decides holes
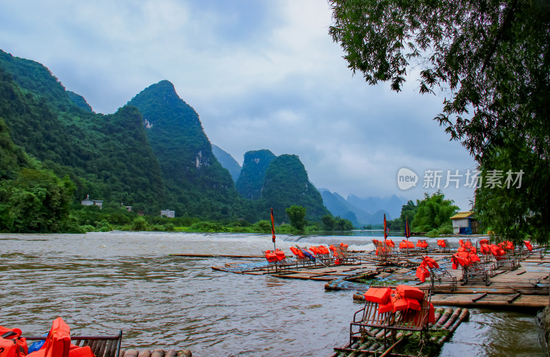
[[[392,215],[385,211],[384,209],[377,209],[373,213],[366,212],[363,209],[360,209],[359,207],[356,207],[352,203],[349,202],[349,200],[346,200],[344,197],[340,196],[340,194],[337,194],[336,192],[331,193],[327,189],[320,189],[323,203],[331,211],[331,214],[333,216],[340,216],[342,218],[346,218],[351,220],[348,217],[351,216],[350,213],[353,213],[355,216],[356,222],[351,222],[355,227],[360,227],[367,224],[382,224],[384,222],[384,214],[386,214],[386,219],[391,220]],[[401,207],[399,207],[399,214],[401,213]],[[399,215],[395,216],[398,217]]]

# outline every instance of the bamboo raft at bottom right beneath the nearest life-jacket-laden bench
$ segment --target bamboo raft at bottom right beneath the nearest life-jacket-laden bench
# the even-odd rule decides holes
[[[429,325],[428,341],[420,341],[418,332],[398,332],[395,343],[388,346],[384,345],[384,337],[389,338],[391,332],[384,336],[384,329],[371,328],[368,334],[373,337],[363,338],[362,341],[354,338],[341,347],[335,347],[335,352],[330,357],[433,356],[469,316],[467,308],[438,308],[435,311],[436,322]],[[411,350],[414,352],[410,352]]]

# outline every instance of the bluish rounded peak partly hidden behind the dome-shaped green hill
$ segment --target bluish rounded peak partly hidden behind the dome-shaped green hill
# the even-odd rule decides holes
[[[270,150],[252,150],[244,155],[243,169],[235,183],[236,190],[244,198],[257,200],[265,183],[265,172],[276,156]]]

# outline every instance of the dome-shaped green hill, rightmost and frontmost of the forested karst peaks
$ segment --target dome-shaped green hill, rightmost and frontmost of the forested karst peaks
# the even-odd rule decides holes
[[[265,171],[261,202],[266,208],[273,207],[278,222],[287,220],[285,209],[292,205],[305,207],[307,220],[320,220],[330,214],[296,155],[284,154],[271,161]]]

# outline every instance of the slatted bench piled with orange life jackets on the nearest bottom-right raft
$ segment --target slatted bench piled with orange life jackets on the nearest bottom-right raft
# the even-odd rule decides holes
[[[372,340],[387,346],[395,343],[399,331],[419,332],[421,339],[429,337],[428,324],[435,322],[430,286],[398,285],[395,290],[371,287],[364,297],[364,307],[355,312],[350,323],[349,348],[335,348],[337,351],[358,351],[357,346]]]

